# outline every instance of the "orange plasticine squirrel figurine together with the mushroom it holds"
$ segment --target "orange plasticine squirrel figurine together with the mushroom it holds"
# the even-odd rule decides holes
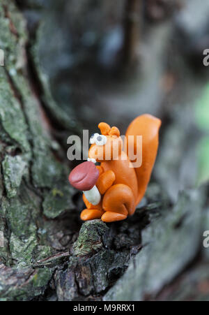
[[[134,119],[125,134],[125,151],[118,128],[104,122],[98,125],[101,134],[91,136],[88,161],[74,168],[69,175],[70,184],[84,191],[86,209],[82,211],[82,220],[102,219],[112,222],[134,214],[153,170],[160,125],[160,119],[148,114]],[[127,154],[131,152],[129,149],[134,154],[137,152],[136,135],[142,135],[142,163],[141,166],[133,167],[134,160]],[[109,159],[106,158],[108,154]],[[95,166],[95,162],[99,162],[100,166]]]

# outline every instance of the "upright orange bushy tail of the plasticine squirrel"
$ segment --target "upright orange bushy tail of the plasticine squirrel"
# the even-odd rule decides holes
[[[127,137],[127,154],[128,152],[134,152],[134,154],[137,154],[137,152],[139,152],[140,149],[137,148],[136,136],[137,135],[142,136],[141,166],[134,167],[134,170],[137,174],[138,182],[138,197],[136,205],[144,197],[146,187],[150,180],[150,175],[152,173],[155,159],[157,156],[157,148],[159,142],[158,135],[160,126],[161,126],[160,119],[152,115],[145,114],[134,119],[130,126],[128,126],[125,134]],[[134,137],[128,138],[129,135],[134,135]],[[136,159],[133,159],[132,156],[129,156],[129,158],[134,165]]]

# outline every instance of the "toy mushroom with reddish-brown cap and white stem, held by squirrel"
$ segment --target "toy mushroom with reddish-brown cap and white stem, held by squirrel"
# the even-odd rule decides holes
[[[92,205],[98,205],[101,200],[100,192],[95,186],[100,172],[95,164],[87,161],[76,166],[69,175],[70,184],[84,192],[86,199]]]

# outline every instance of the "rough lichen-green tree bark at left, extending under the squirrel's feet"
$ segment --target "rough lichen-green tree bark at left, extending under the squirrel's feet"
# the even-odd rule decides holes
[[[82,226],[77,239],[82,223],[72,202],[65,150],[56,140],[60,131],[72,133],[72,122],[42,80],[14,1],[1,1],[0,29],[5,52],[0,67],[0,299],[98,299],[127,267],[140,231],[136,227],[133,238],[121,241],[110,235],[114,228],[95,220]],[[125,235],[128,226],[121,230]]]

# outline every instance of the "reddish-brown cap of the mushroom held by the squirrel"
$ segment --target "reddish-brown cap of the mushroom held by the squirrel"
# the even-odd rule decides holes
[[[100,175],[93,162],[84,162],[73,168],[69,175],[70,184],[81,191],[88,191],[96,184]]]

